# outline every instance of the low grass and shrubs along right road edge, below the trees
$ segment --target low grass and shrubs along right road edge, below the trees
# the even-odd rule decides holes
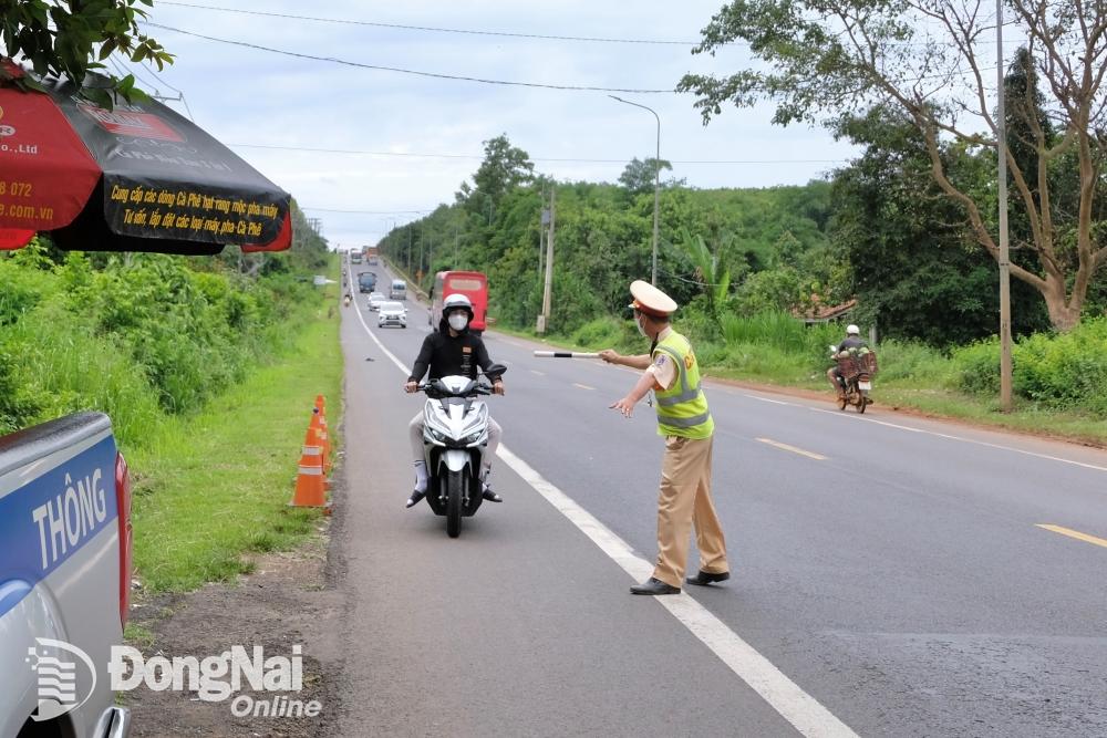
[[[733,318],[726,336],[701,333],[695,320],[677,313],[707,376],[825,393],[827,346],[841,339],[841,326],[805,326],[789,313]],[[691,330],[686,330],[691,328]],[[509,332],[535,337],[532,331]],[[554,344],[580,351],[614,347],[642,353],[633,323],[614,318],[591,321]],[[911,408],[981,425],[1046,434],[1107,446],[1107,319],[1085,320],[1070,333],[1036,333],[1014,345],[1011,413],[1000,412],[1000,346],[989,339],[946,351],[919,341],[889,339],[879,344],[877,408]]]

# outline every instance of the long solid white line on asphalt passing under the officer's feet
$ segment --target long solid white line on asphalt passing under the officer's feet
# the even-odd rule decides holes
[[[361,318],[362,328],[369,336],[405,374],[411,374],[395,355],[384,347],[380,339],[369,330],[365,320]],[[540,474],[529,464],[508,450],[500,444],[499,457],[507,466],[541,495],[547,502],[568,518],[584,536],[587,536],[603,553],[619,564],[631,578],[641,582],[653,572],[653,564],[637,555],[633,549],[600,522],[592,513],[577,502]],[[629,595],[628,595],[629,596]],[[701,605],[686,592],[679,595],[655,597],[658,604],[668,610],[673,617],[700,638],[734,674],[762,696],[768,705],[793,725],[804,736],[827,738],[857,738],[849,726],[839,720],[817,699],[799,688],[785,674],[762,656],[753,646],[743,641],[726,623],[718,620],[706,607]]]

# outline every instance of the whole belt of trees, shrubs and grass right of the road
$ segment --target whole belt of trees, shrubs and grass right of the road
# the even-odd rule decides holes
[[[865,153],[827,180],[718,190],[662,183],[658,283],[681,304],[680,330],[707,371],[829,395],[827,347],[852,322],[862,334],[877,330],[881,405],[1107,445],[1107,264],[1068,326],[1054,324],[1036,289],[1013,280],[1015,403],[1002,413],[994,261],[929,179],[925,142],[909,122],[872,114],[842,126]],[[994,188],[986,152],[949,156],[949,170],[974,193]],[[499,136],[485,143],[484,163],[453,205],[394,229],[383,250],[402,271],[422,273],[424,290],[438,270],[488,273],[495,328],[534,336],[540,216],[556,189],[545,337],[639,352],[625,305],[630,281],[650,279],[653,183],[643,175],[652,170],[652,160],[634,160],[617,184],[555,183]],[[1055,180],[1061,191],[1076,186],[1062,171]],[[1097,200],[1094,214],[1105,209]],[[1013,238],[1028,238],[1025,222],[1013,224]]]

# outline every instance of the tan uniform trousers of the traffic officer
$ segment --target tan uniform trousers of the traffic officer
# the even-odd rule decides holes
[[[700,569],[712,574],[730,571],[723,528],[711,501],[710,438],[665,437],[658,498],[658,564],[654,579],[682,586],[689,558],[689,536],[695,524]]]

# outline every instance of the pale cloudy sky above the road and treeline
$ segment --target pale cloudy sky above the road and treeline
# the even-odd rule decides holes
[[[609,94],[656,112],[661,158],[673,163],[662,176],[691,187],[801,185],[856,156],[826,131],[773,125],[772,105],[724,108],[704,126],[689,94],[366,69],[672,90],[685,73],[726,74],[751,63],[741,44],[714,58],[692,54],[721,7],[722,0],[155,0],[143,29],[176,55],[174,64],[157,71],[113,58],[108,70],[135,74],[147,92],[182,97],[166,104],[291,193],[332,248],[352,248],[453,202],[480,164],[483,142],[500,134],[530,155],[537,171],[560,181],[615,181],[632,158],[654,155],[658,122]]]

